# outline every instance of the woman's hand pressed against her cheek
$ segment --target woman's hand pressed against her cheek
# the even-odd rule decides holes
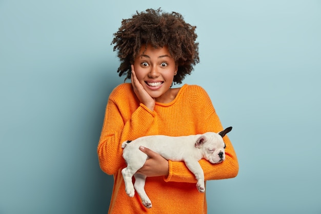
[[[151,111],[154,110],[155,107],[155,99],[152,98],[149,93],[144,89],[143,85],[139,83],[137,76],[134,71],[134,65],[131,65],[131,84],[134,88],[134,92],[139,101],[144,104]]]

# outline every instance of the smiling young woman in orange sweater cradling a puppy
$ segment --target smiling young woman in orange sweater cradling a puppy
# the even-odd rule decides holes
[[[121,170],[126,167],[121,144],[145,135],[182,136],[224,130],[207,92],[180,84],[199,62],[195,26],[176,12],[148,9],[123,20],[112,44],[121,65],[119,76],[131,83],[117,86],[109,96],[98,144],[99,164],[114,176],[109,213],[207,213],[206,194],[184,162],[164,159],[148,148],[150,158],[138,171],[145,174],[145,190],[152,201],[146,208],[135,194],[127,196]],[[125,79],[125,80],[126,80]],[[205,180],[233,178],[238,162],[227,136],[226,159],[219,164],[199,161]],[[140,152],[140,151],[137,151]]]

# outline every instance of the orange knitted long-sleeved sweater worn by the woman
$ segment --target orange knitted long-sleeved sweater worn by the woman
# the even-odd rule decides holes
[[[104,172],[114,176],[109,213],[207,213],[206,194],[196,189],[196,179],[184,162],[169,161],[168,177],[149,177],[145,190],[152,208],[145,208],[138,194],[130,198],[125,192],[121,170],[126,167],[122,157],[122,142],[145,135],[182,136],[219,132],[223,127],[206,91],[196,85],[183,85],[176,98],[167,104],[157,103],[150,111],[139,103],[131,84],[117,86],[109,96],[101,138],[98,144],[99,164]],[[226,159],[219,164],[199,161],[205,180],[233,178],[238,163],[227,136]]]

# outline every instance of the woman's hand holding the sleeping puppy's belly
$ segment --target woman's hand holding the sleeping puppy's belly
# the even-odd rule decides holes
[[[168,161],[162,155],[145,148],[139,147],[141,151],[148,155],[144,166],[140,168],[137,173],[144,174],[147,177],[168,176]]]

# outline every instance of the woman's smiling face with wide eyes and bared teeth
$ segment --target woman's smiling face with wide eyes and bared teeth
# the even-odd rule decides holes
[[[154,48],[147,45],[145,49],[144,45],[135,58],[134,70],[139,83],[159,102],[168,95],[177,66],[167,46]]]

